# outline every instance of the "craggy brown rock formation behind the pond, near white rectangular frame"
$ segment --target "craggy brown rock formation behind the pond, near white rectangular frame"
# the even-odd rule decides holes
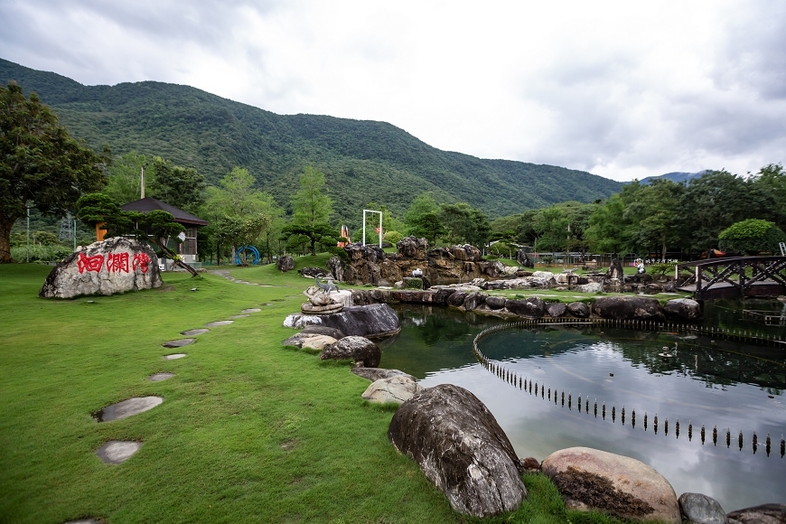
[[[407,237],[399,240],[396,247],[398,253],[385,253],[378,246],[349,244],[344,247],[349,264],[334,257],[328,268],[336,280],[388,286],[420,270],[426,288],[430,282],[440,280],[504,275],[500,262],[485,260],[480,249],[469,244],[429,250],[426,239]]]

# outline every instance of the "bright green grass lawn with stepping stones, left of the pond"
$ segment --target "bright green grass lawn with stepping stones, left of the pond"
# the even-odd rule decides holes
[[[271,265],[231,270],[264,287],[165,274],[157,290],[45,300],[50,269],[0,266],[0,522],[475,521],[388,443],[392,411],[360,398],[367,380],[281,345],[306,279]],[[182,350],[161,346],[251,307],[262,312]],[[173,352],[188,356],[162,359]],[[162,371],[175,376],[147,379]],[[147,395],[164,403],[114,422],[90,416]],[[94,452],[108,440],[144,444],[107,465]],[[566,511],[542,475],[525,482],[529,501],[485,521],[617,521]]]

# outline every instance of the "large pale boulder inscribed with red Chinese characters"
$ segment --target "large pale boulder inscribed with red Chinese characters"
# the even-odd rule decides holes
[[[162,284],[153,249],[136,239],[115,237],[77,248],[51,270],[38,295],[114,295]]]

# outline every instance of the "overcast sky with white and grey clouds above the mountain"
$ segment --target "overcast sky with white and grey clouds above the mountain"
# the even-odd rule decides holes
[[[786,2],[0,0],[0,57],[632,180],[786,164]]]

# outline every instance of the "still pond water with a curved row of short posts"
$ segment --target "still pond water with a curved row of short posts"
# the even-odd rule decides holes
[[[756,309],[766,309],[768,304],[772,309],[781,306],[758,301]],[[751,305],[707,303],[705,323],[772,332],[743,322],[743,307]],[[648,463],[678,495],[702,492],[726,511],[786,502],[786,457],[781,455],[781,434],[786,434],[786,349],[608,327],[534,326],[491,333],[479,342],[480,350],[495,365],[515,374],[514,385],[486,370],[473,354],[477,333],[505,321],[427,306],[400,307],[398,314],[402,330],[396,339],[385,342],[380,367],[406,371],[424,387],[452,383],[469,389],[491,409],[521,457],[543,460],[558,449],[593,447]],[[673,356],[661,357],[664,348]],[[523,379],[528,388],[519,388]],[[536,395],[532,388],[530,392],[531,382],[547,391]],[[755,448],[753,433],[758,437]]]

